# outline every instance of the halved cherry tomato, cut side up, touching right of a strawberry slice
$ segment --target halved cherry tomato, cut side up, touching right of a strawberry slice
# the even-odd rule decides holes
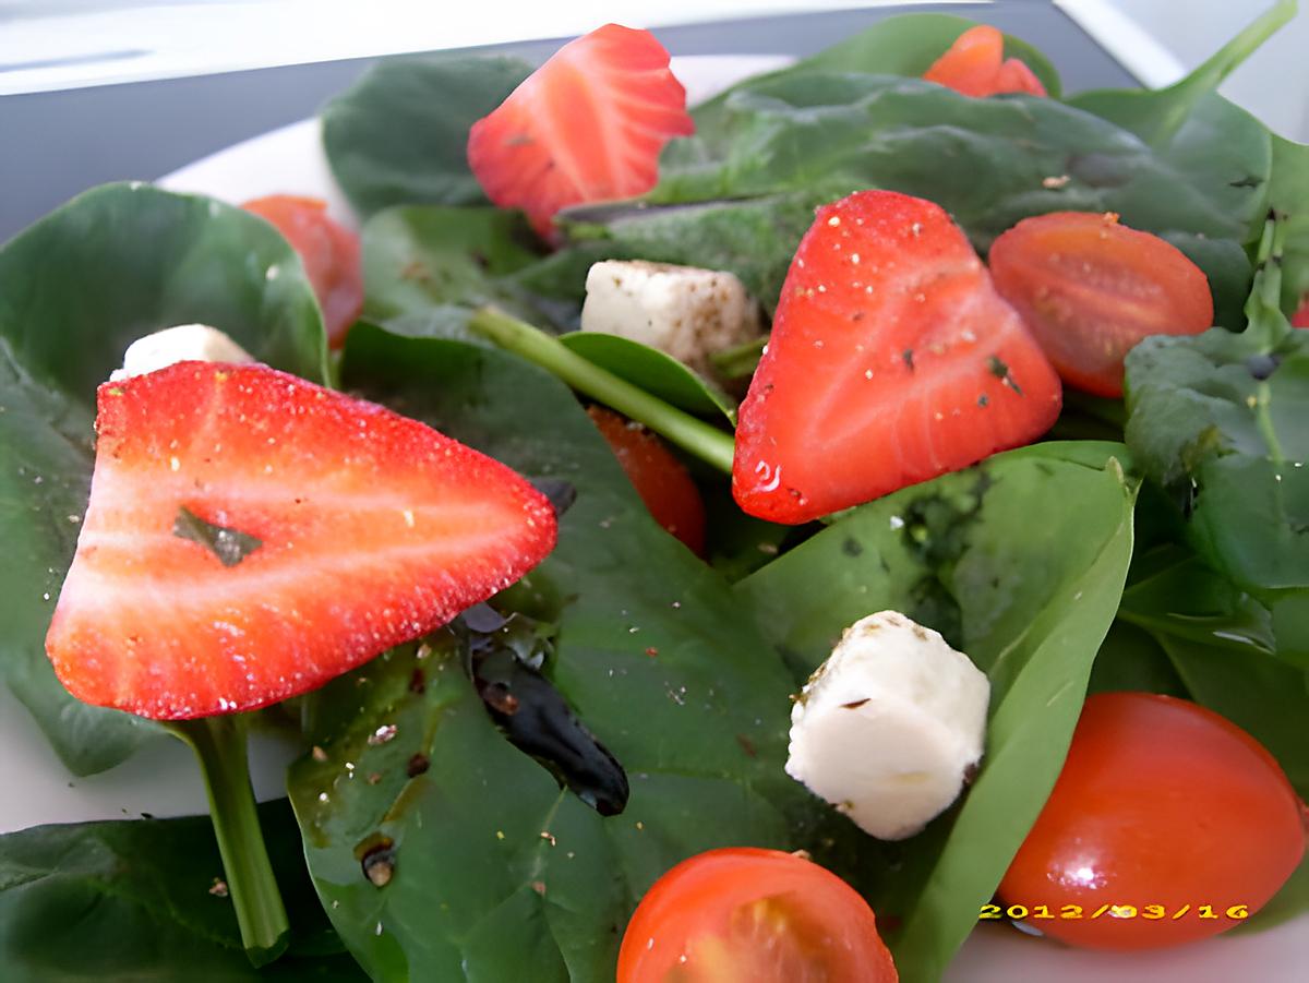
[[[991,245],[991,277],[1069,385],[1123,394],[1123,359],[1147,335],[1213,325],[1208,277],[1181,250],[1118,216],[1052,212]]]

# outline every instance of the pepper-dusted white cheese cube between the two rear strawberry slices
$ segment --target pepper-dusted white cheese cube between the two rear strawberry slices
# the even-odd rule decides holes
[[[759,312],[733,274],[606,259],[586,274],[583,331],[603,331],[712,376],[709,355],[761,334]]]

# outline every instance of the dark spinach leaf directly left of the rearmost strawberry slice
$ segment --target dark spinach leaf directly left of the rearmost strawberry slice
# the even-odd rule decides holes
[[[378,62],[322,113],[332,174],[361,217],[398,204],[484,204],[469,170],[469,128],[531,65],[517,58]]]

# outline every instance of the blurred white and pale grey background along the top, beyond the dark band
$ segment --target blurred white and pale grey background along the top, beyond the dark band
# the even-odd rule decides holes
[[[1028,0],[1041,3],[1042,0]],[[940,8],[950,0],[931,4]],[[961,0],[962,5],[969,5]],[[1271,0],[1054,0],[1145,84],[1204,60]],[[0,94],[465,47],[877,0],[0,0]],[[1039,43],[1038,38],[1033,41]],[[1309,13],[1224,93],[1309,140]]]

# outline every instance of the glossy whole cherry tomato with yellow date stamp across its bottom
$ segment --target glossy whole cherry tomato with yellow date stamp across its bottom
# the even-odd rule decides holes
[[[1155,949],[1236,927],[1304,849],[1302,804],[1253,737],[1187,700],[1097,694],[999,895],[1045,906],[1029,924],[1066,942]],[[1135,916],[1093,918],[1106,904]]]

